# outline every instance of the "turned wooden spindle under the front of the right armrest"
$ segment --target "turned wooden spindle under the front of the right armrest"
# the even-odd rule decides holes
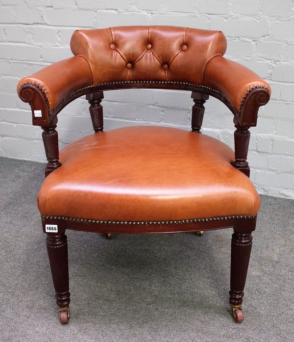
[[[250,176],[250,168],[247,162],[247,154],[249,148],[250,132],[249,127],[239,127],[235,125],[236,131],[234,132],[235,140],[235,161],[233,166]]]

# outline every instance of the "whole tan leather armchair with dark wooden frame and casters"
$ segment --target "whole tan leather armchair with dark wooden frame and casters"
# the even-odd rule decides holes
[[[18,84],[43,129],[48,159],[38,195],[57,305],[69,320],[66,229],[144,234],[233,228],[229,303],[242,321],[252,231],[260,207],[246,161],[248,129],[270,99],[269,85],[223,57],[220,31],[173,26],[76,30],[72,58]],[[192,131],[127,127],[103,132],[103,91],[160,88],[192,91]],[[86,95],[94,131],[58,151],[58,113]],[[200,134],[209,95],[232,112],[235,153]]]

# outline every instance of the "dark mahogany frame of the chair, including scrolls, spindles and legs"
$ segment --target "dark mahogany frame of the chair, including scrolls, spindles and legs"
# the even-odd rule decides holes
[[[50,172],[58,168],[59,162],[57,114],[74,99],[86,95],[90,103],[90,114],[95,133],[103,131],[103,111],[101,101],[104,90],[129,89],[129,88],[153,88],[176,89],[192,91],[194,105],[192,108],[192,132],[200,133],[204,115],[204,103],[209,96],[213,96],[223,102],[234,115],[236,131],[235,161],[233,166],[249,177],[250,169],[247,162],[250,132],[249,128],[256,126],[257,112],[261,105],[265,105],[270,98],[269,90],[263,86],[255,86],[248,90],[239,109],[235,108],[220,91],[187,82],[177,81],[118,81],[90,85],[80,88],[66,96],[52,111],[49,110],[49,102],[44,91],[34,83],[25,83],[21,86],[20,97],[28,102],[32,109],[33,125],[41,126],[42,137],[48,160],[45,170],[47,177]],[[42,116],[34,115],[35,110],[41,110]],[[181,221],[95,221],[90,219],[76,219],[60,216],[42,216],[43,231],[46,233],[46,225],[58,225],[57,233],[47,233],[47,249],[52,272],[55,297],[59,306],[60,320],[67,323],[69,320],[69,270],[66,229],[110,233],[127,233],[126,226],[138,225],[138,233],[171,233],[171,232],[200,232],[203,230],[215,230],[233,228],[231,240],[231,277],[229,304],[234,319],[242,321],[242,302],[244,296],[245,281],[250,258],[252,235],[255,230],[256,215],[237,215],[215,218],[189,219]],[[132,232],[133,234],[133,232]]]

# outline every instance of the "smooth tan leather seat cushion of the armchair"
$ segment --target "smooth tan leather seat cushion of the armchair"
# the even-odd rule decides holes
[[[60,152],[38,195],[42,215],[95,220],[184,220],[255,215],[259,196],[204,134],[127,127],[85,136]]]

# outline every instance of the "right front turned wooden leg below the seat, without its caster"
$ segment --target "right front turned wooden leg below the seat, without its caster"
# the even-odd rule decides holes
[[[230,305],[241,307],[252,246],[251,234],[234,232],[231,244]]]

